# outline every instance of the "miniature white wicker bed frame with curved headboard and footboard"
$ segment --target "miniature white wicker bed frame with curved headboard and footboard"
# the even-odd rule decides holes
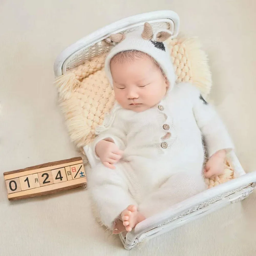
[[[59,77],[69,69],[108,51],[110,46],[104,44],[102,40],[109,37],[110,34],[125,33],[137,29],[145,22],[150,22],[154,28],[170,29],[173,32],[173,38],[177,36],[179,31],[179,17],[175,12],[169,10],[145,13],[119,20],[80,39],[64,50],[55,61],[55,76]],[[90,147],[84,146],[84,152],[90,166],[94,166],[96,160]],[[119,234],[124,248],[129,250],[146,238],[152,238],[246,198],[252,193],[256,185],[256,172],[246,174],[235,153],[229,155],[229,161],[234,168],[235,179],[210,188],[180,202],[165,212],[142,221],[129,233]]]

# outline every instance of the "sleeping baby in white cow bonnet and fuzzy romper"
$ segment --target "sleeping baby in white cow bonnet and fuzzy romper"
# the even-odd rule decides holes
[[[175,83],[164,43],[170,36],[169,30],[153,33],[149,23],[143,31],[110,36],[115,46],[105,71],[116,102],[98,127],[92,144],[98,164],[87,178],[100,221],[113,233],[129,232],[205,190],[204,177],[222,174],[233,149],[200,91]]]

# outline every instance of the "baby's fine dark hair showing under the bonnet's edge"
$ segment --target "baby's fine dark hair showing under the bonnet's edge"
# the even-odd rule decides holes
[[[162,72],[164,78],[167,79],[163,69],[160,67],[158,62],[152,56],[150,56],[149,54],[142,52],[142,51],[138,51],[138,50],[120,51],[116,55],[114,55],[114,57],[111,59],[110,63],[111,62],[112,63],[113,62],[114,63],[124,62],[124,61],[133,62],[135,60],[143,59],[145,57],[149,58],[159,68],[159,70]]]

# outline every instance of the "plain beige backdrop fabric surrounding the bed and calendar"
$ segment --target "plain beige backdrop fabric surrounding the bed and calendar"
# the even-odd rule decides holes
[[[86,191],[8,202],[2,173],[78,156],[57,106],[59,52],[115,20],[172,9],[209,54],[211,98],[247,172],[256,166],[254,0],[0,1],[0,255],[256,254],[256,195],[130,252],[94,221]]]

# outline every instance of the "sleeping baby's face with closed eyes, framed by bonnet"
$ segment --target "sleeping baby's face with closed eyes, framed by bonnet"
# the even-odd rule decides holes
[[[161,101],[168,82],[147,56],[133,61],[110,63],[116,101],[135,112],[145,111]]]

